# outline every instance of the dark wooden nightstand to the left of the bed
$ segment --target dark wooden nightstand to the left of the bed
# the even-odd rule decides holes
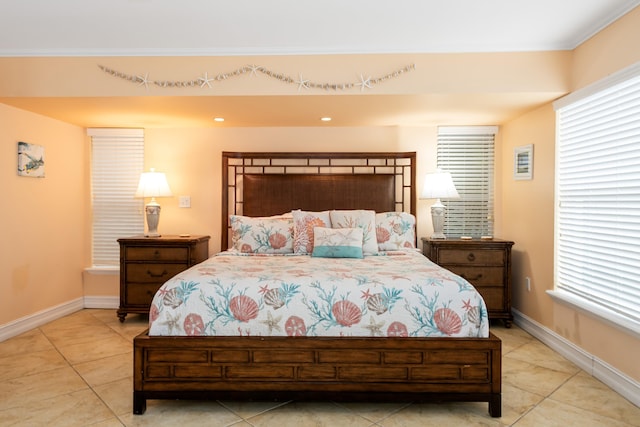
[[[118,243],[121,322],[128,313],[148,313],[164,282],[209,256],[209,236],[134,236]]]

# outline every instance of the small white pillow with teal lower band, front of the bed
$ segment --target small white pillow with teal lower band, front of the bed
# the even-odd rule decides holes
[[[315,227],[311,256],[362,258],[362,229]]]

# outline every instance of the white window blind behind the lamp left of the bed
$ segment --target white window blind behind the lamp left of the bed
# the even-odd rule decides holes
[[[144,169],[144,131],[88,129],[91,137],[92,262],[117,266],[117,239],[144,232],[143,200],[134,198]]]

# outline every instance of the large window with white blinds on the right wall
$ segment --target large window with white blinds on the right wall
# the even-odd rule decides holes
[[[640,64],[555,108],[552,295],[640,333]]]

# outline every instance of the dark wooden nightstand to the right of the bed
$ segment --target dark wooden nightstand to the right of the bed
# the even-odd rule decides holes
[[[468,280],[482,295],[490,319],[511,327],[511,246],[507,240],[422,238],[422,253]]]

